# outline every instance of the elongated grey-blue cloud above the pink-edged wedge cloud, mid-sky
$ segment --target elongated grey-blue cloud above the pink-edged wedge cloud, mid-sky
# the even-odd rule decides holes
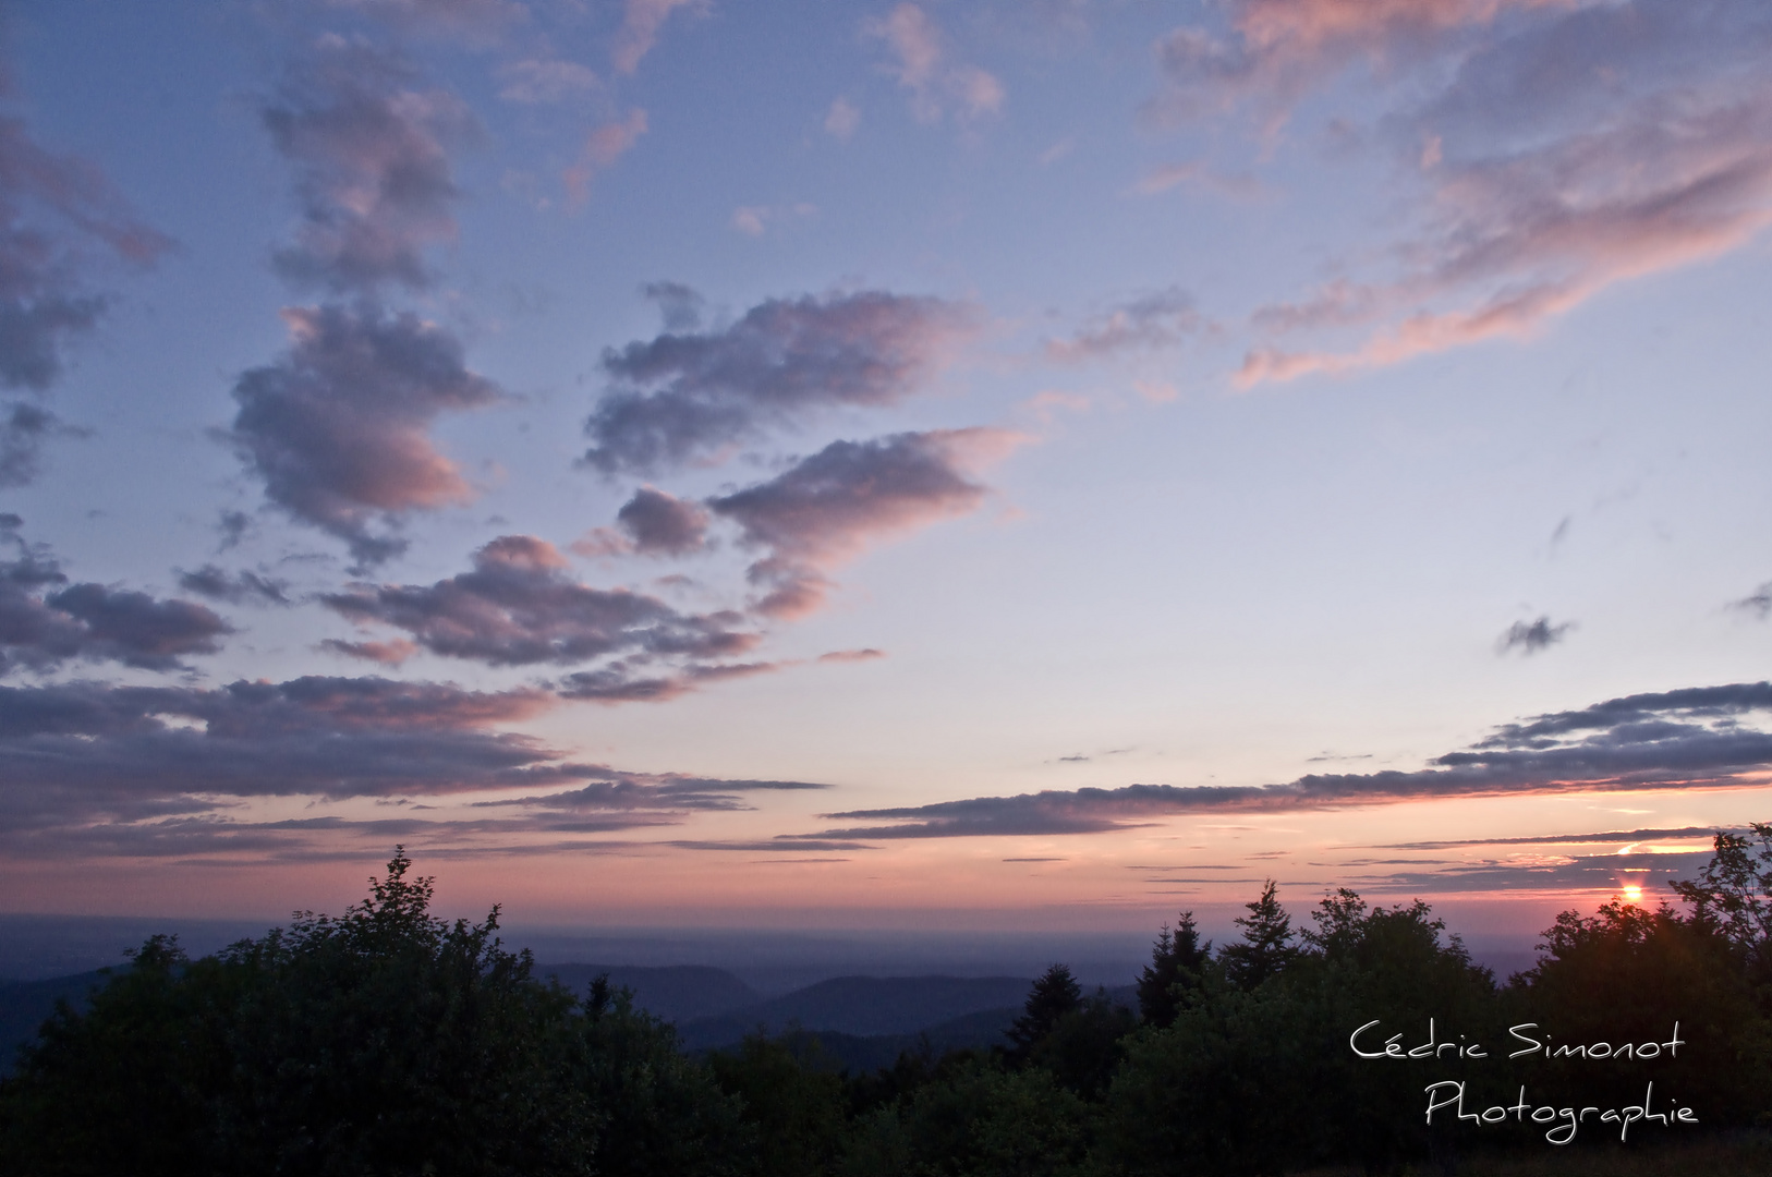
[[[585,422],[585,463],[604,473],[718,459],[822,408],[895,404],[978,330],[959,303],[858,291],[773,298],[703,331],[686,287],[649,294],[677,326],[602,355],[610,386]]]

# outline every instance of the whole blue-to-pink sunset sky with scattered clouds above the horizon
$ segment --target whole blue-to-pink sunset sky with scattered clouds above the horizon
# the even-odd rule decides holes
[[[1758,0],[12,0],[0,908],[1455,929],[1772,821]]]

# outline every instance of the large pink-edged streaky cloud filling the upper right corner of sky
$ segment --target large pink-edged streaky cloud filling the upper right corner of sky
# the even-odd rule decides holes
[[[1272,335],[1361,328],[1364,340],[1262,344],[1240,385],[1531,337],[1620,282],[1737,250],[1772,223],[1760,69],[1772,14],[1680,0],[1545,9],[1467,46],[1437,97],[1393,117],[1426,195],[1395,273],[1255,316]]]

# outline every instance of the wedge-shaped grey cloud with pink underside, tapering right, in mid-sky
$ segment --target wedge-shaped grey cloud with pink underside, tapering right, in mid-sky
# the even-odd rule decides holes
[[[829,571],[893,532],[976,509],[987,491],[969,479],[1019,443],[999,429],[898,433],[872,441],[833,441],[783,473],[709,500],[766,555],[750,580],[757,610],[796,617],[822,604]]]

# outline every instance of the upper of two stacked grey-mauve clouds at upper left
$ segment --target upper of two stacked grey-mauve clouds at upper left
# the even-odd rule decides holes
[[[323,37],[262,112],[296,168],[301,225],[276,252],[292,282],[340,294],[431,282],[425,250],[455,239],[448,147],[477,129],[452,94],[374,46]]]

